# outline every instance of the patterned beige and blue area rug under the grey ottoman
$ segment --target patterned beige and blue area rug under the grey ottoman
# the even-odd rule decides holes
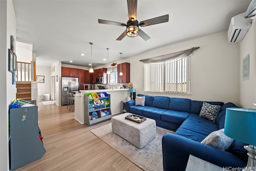
[[[128,160],[145,171],[162,171],[162,136],[168,129],[156,127],[156,137],[142,149],[139,149],[112,132],[111,123],[91,130],[94,135],[118,151]]]

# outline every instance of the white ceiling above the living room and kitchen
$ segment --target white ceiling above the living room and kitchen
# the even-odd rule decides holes
[[[126,23],[126,0],[12,0],[16,39],[33,43],[37,65],[62,61],[92,67],[148,50],[228,30],[232,16],[245,12],[251,0],[138,0],[137,20],[169,14],[169,22],[141,29],[151,38],[116,38],[125,27],[99,24],[98,19]],[[84,53],[85,56],[80,54]],[[17,54],[18,55],[18,54]]]

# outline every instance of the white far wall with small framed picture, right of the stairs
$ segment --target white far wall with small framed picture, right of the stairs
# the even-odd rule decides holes
[[[43,101],[44,94],[50,94],[51,100],[51,67],[36,66],[36,75],[44,76],[44,83],[38,83],[38,101]]]

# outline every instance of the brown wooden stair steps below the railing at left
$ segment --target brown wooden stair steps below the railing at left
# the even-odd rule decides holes
[[[16,99],[31,100],[31,82],[16,82]]]

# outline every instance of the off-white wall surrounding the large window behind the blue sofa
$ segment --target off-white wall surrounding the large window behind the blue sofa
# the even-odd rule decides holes
[[[144,89],[144,64],[152,58],[200,46],[191,57],[191,95],[148,93]],[[239,105],[239,44],[228,43],[227,31],[158,48],[122,60],[131,65],[130,81],[136,94],[165,95],[202,101],[233,102]]]

